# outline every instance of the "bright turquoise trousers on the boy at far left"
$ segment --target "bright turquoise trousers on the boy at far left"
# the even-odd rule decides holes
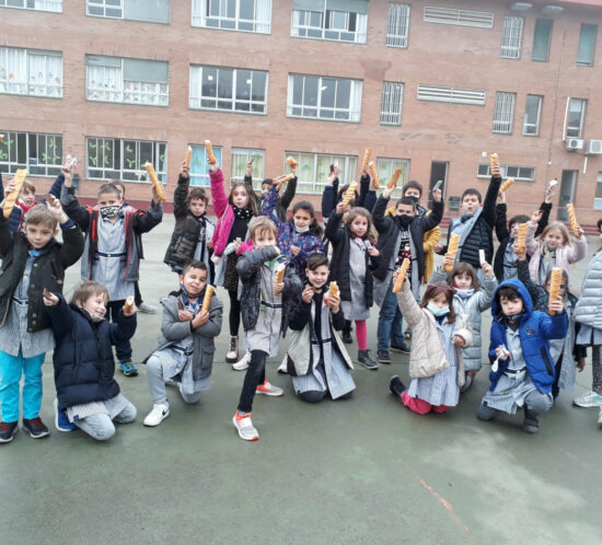
[[[21,376],[23,381],[23,418],[32,419],[39,415],[42,406],[42,363],[44,353],[33,358],[10,356],[0,351],[0,405],[2,420],[16,422],[19,420],[19,390]]]

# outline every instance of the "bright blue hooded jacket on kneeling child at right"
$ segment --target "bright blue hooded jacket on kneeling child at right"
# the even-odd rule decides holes
[[[543,394],[552,391],[554,383],[554,362],[549,355],[548,339],[562,339],[567,334],[568,320],[566,312],[549,316],[543,312],[533,310],[533,301],[529,291],[520,280],[506,280],[501,282],[491,302],[491,314],[494,322],[491,324],[491,341],[489,345],[489,359],[496,359],[496,348],[500,345],[507,346],[506,332],[507,325],[500,322],[503,316],[499,303],[499,290],[503,287],[514,288],[523,302],[523,314],[520,320],[519,332],[521,339],[522,355],[526,362],[526,370],[533,381],[533,384]],[[495,390],[499,378],[508,368],[510,359],[499,360],[497,372],[489,373],[491,385],[489,390]]]

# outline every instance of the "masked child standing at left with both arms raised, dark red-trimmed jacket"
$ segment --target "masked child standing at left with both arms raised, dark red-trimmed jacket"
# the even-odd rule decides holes
[[[150,209],[124,210],[123,195],[112,184],[99,188],[94,208],[80,206],[72,187],[71,172],[65,173],[61,204],[85,234],[85,247],[81,260],[81,279],[95,280],[108,291],[108,315],[115,322],[125,300],[134,297],[135,283],[140,278],[140,248],[142,233],[161,223],[163,206],[152,188]],[[138,369],[131,360],[131,344],[128,340],[115,345],[119,371],[126,376],[136,376]]]

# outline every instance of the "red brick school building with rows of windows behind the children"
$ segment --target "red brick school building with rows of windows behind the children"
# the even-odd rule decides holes
[[[557,177],[560,217],[574,200],[592,224],[600,24],[597,0],[0,0],[0,170],[44,193],[71,153],[82,196],[119,178],[144,200],[143,163],[171,195],[188,144],[207,184],[210,139],[231,178],[296,155],[319,202],[329,165],[355,179],[371,147],[381,178],[444,179],[453,214],[497,151],[517,211]]]

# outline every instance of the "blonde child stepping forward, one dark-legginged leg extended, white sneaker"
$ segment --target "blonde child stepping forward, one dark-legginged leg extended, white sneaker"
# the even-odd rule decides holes
[[[277,277],[285,259],[276,245],[278,230],[274,222],[261,216],[252,220],[248,229],[255,250],[241,254],[236,270],[242,281],[241,306],[251,360],[232,421],[241,439],[256,441],[259,434],[251,420],[253,399],[256,393],[274,397],[285,394],[266,380],[265,363],[278,355],[280,335],[287,331],[291,303],[302,283],[290,265],[282,281]]]

